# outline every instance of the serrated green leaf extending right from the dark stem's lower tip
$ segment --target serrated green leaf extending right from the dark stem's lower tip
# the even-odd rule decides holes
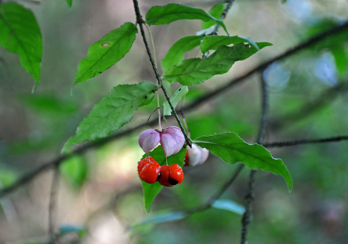
[[[247,144],[236,133],[232,132],[198,137],[193,142],[200,147],[207,148],[226,163],[241,162],[254,170],[261,169],[280,174],[284,177],[289,192],[292,190],[292,178],[283,161],[273,158],[271,153],[261,145]]]

